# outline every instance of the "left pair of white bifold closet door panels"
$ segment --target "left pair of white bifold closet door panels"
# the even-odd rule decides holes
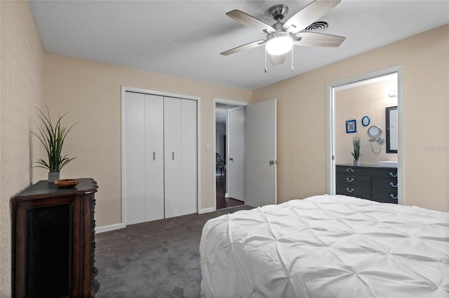
[[[160,220],[163,212],[163,97],[126,92],[123,199],[129,225]]]

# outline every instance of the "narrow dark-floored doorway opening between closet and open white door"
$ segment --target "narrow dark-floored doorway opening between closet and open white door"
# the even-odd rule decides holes
[[[215,103],[216,209],[244,204],[244,125],[244,106]]]

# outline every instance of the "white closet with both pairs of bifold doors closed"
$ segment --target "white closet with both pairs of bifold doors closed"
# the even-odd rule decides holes
[[[128,225],[197,212],[196,104],[125,92],[122,200]]]

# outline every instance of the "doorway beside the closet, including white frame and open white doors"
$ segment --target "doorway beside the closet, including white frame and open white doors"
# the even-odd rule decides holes
[[[229,106],[226,107],[227,150],[225,184],[227,196],[225,193],[225,199],[228,197],[241,199],[240,204],[252,207],[276,204],[276,99],[259,101],[254,104],[214,99],[214,155],[216,146],[215,118],[217,118],[215,110],[217,104]],[[234,139],[239,138],[240,141],[234,141]],[[215,183],[215,180],[217,180],[217,168],[215,159],[213,166],[215,167],[215,171],[213,171],[213,194],[216,197],[217,183]],[[217,209],[216,199],[214,200],[214,209]]]

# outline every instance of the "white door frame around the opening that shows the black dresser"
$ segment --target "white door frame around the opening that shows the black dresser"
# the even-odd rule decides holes
[[[391,73],[398,75],[398,204],[404,204],[403,66],[392,66],[326,84],[326,191],[335,194],[335,88]]]

